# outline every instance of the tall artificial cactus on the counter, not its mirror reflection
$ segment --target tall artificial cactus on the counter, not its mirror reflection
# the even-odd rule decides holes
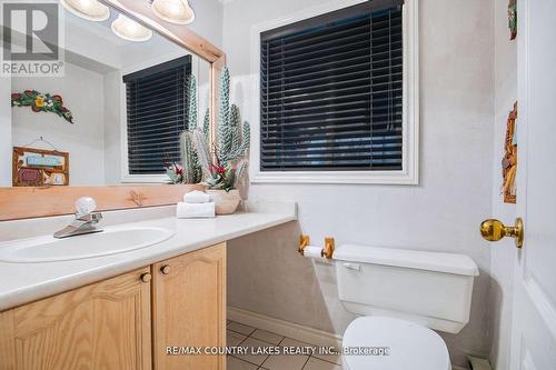
[[[222,70],[220,82],[219,124],[212,151],[207,132],[207,129],[203,131],[198,128],[188,132],[205,183],[209,189],[230,191],[237,187],[247,169],[250,130],[249,123],[241,123],[239,108],[230,104],[230,72],[227,67]]]

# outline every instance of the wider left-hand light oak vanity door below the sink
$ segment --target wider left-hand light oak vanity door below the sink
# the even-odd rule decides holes
[[[149,268],[0,313],[1,370],[151,369]]]

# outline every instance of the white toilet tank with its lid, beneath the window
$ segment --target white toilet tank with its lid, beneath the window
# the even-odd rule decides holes
[[[468,256],[345,244],[334,259],[339,298],[350,312],[451,333],[469,321],[479,270]]]

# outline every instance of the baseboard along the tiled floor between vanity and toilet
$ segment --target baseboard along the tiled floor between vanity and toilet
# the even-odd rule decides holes
[[[228,307],[228,320],[267,330],[284,337],[294,338],[310,344],[341,347],[341,336],[234,307]]]

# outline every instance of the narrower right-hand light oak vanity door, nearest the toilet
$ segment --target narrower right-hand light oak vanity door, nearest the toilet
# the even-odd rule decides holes
[[[226,244],[156,263],[152,271],[155,369],[225,369],[225,356],[172,356],[167,350],[226,346]]]

